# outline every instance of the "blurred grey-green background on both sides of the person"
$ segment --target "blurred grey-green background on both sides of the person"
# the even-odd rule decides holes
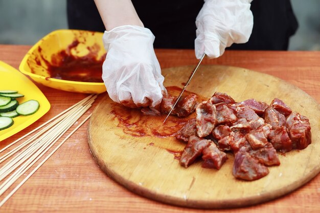
[[[299,28],[289,50],[320,50],[320,0],[291,4]],[[48,33],[67,28],[65,0],[0,0],[1,44],[33,45]]]

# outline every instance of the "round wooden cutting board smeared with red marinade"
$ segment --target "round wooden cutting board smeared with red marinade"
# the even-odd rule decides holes
[[[193,68],[164,69],[165,86],[182,88]],[[105,94],[88,128],[90,151],[101,169],[134,193],[197,208],[238,207],[275,199],[319,173],[320,106],[301,89],[244,68],[203,65],[187,90],[201,94],[204,99],[209,99],[215,91],[225,92],[236,101],[254,98],[269,104],[273,98],[279,98],[293,111],[309,118],[312,143],[304,150],[279,154],[281,165],[268,167],[270,173],[256,181],[242,181],[232,175],[231,154],[220,170],[201,168],[200,162],[185,169],[176,159],[176,153],[185,144],[173,136],[154,134],[155,130],[171,128],[168,126],[173,125],[174,116],[162,127],[165,116],[159,119],[159,116],[142,115],[137,109],[113,103]],[[132,126],[135,132],[130,130]]]

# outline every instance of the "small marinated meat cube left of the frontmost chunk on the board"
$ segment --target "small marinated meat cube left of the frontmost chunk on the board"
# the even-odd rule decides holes
[[[227,156],[220,151],[214,143],[211,143],[202,151],[202,167],[219,170],[226,161]]]

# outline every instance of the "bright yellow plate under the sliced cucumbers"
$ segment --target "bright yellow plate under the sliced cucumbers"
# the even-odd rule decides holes
[[[23,98],[17,98],[20,104],[31,99],[37,100],[40,104],[39,110],[34,114],[14,117],[13,126],[0,131],[0,141],[2,141],[37,121],[49,111],[50,103],[30,79],[3,61],[0,61],[0,79],[0,90],[18,90],[19,93],[25,95]]]

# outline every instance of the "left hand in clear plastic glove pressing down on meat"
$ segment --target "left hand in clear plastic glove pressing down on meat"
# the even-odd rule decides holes
[[[162,92],[167,91],[153,41],[151,31],[139,26],[105,31],[103,43],[107,56],[102,79],[113,101],[131,108],[161,103]]]

